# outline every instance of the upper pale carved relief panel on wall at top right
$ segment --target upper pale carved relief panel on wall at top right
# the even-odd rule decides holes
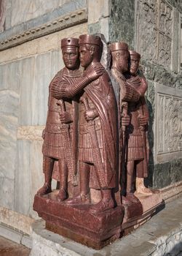
[[[138,51],[170,68],[173,7],[165,0],[139,0],[138,13]]]

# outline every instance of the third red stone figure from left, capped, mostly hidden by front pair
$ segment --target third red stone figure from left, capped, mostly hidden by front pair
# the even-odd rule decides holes
[[[119,113],[119,160],[120,160],[120,176],[122,179],[122,195],[126,194],[126,173],[125,173],[125,157],[126,157],[126,127],[130,124],[130,116],[128,115],[128,102],[137,102],[140,98],[140,94],[135,90],[130,83],[127,83],[127,79],[124,77],[124,73],[128,70],[129,51],[128,45],[125,42],[114,42],[110,45],[112,54],[112,67],[111,75],[116,80],[118,91],[118,113]],[[129,177],[130,179],[130,177]],[[129,182],[128,179],[128,182]],[[132,177],[131,177],[132,179]],[[132,193],[127,193],[127,197],[130,195],[130,199],[137,201]],[[132,198],[131,198],[132,197]],[[125,198],[124,198],[125,199]]]

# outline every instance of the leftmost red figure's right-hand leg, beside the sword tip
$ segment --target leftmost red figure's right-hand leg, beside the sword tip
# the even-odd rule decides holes
[[[58,201],[63,201],[67,198],[67,186],[68,186],[68,169],[66,162],[62,159],[58,161],[59,173],[60,173],[60,191],[58,192]]]

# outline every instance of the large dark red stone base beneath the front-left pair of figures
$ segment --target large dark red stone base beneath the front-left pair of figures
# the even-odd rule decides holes
[[[55,233],[81,244],[100,249],[119,238],[122,230],[123,207],[92,214],[90,205],[68,206],[55,200],[55,192],[35,195],[33,209]]]

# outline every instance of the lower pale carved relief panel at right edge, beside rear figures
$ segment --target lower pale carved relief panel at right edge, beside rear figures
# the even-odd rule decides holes
[[[157,154],[182,151],[182,98],[157,94]]]

